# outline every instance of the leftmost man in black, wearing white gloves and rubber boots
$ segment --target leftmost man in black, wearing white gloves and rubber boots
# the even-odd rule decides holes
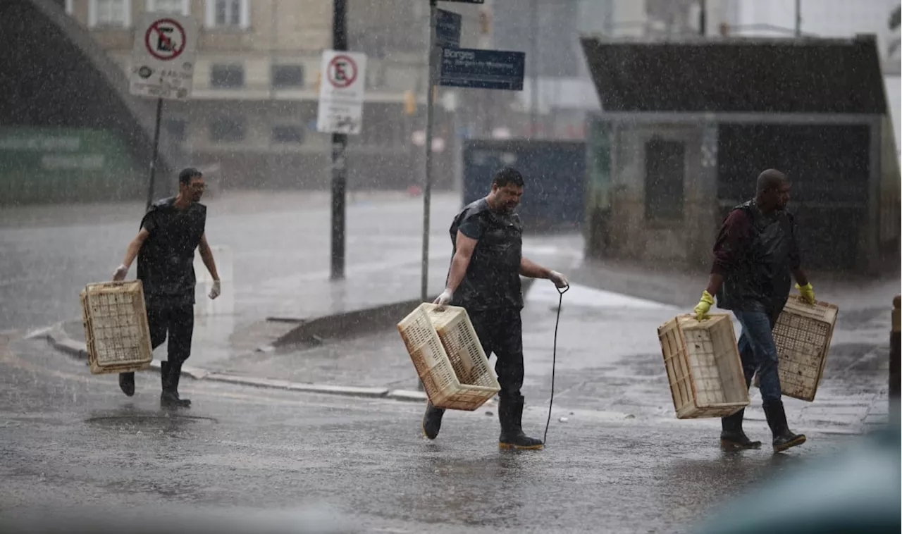
[[[182,170],[179,195],[164,198],[147,211],[141,221],[141,231],[128,245],[125,258],[113,275],[114,281],[124,280],[137,256],[151,345],[156,348],[169,336],[168,361],[160,364],[160,404],[164,407],[191,405],[191,401],[179,397],[179,376],[181,365],[191,354],[196,283],[194,251],[198,247],[214,281],[210,299],[216,299],[220,291],[216,262],[204,231],[207,207],[200,204],[204,189],[204,177],[199,170]],[[134,373],[119,373],[119,387],[131,397]]]

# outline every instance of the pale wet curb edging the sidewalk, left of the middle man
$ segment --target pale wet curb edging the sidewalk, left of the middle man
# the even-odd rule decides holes
[[[63,354],[69,354],[79,360],[87,361],[87,346],[84,343],[69,337],[63,329],[63,323],[59,322],[32,338],[45,337],[48,343]],[[153,360],[151,369],[160,371],[160,361]],[[289,382],[287,380],[275,380],[270,378],[257,378],[253,376],[238,376],[227,373],[213,373],[198,367],[182,366],[181,372],[194,380],[209,382],[224,382],[235,385],[254,386],[284,391],[300,391],[304,393],[319,393],[327,395],[340,395],[345,397],[364,397],[371,399],[391,399],[392,401],[423,402],[426,401],[426,393],[423,391],[390,390],[389,388],[369,388],[359,386],[337,386],[333,384],[317,384],[303,382]]]

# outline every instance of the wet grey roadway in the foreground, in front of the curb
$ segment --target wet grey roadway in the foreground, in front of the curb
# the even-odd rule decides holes
[[[676,532],[853,439],[809,434],[797,453],[735,455],[718,449],[716,421],[578,412],[553,421],[546,450],[506,453],[491,408],[449,413],[428,442],[419,404],[186,380],[194,406],[173,414],[158,380],[139,374],[129,399],[115,376],[5,337],[0,516],[162,508],[209,522],[246,508],[294,513],[285,531]],[[546,413],[530,406],[524,426],[540,434]]]

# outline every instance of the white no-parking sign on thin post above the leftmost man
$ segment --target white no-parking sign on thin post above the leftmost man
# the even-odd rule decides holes
[[[145,13],[134,28],[129,92],[187,100],[194,85],[198,23],[179,14]]]

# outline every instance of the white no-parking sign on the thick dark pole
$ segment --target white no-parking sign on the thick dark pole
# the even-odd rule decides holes
[[[323,51],[321,72],[317,130],[327,134],[360,134],[364,120],[366,54]]]

